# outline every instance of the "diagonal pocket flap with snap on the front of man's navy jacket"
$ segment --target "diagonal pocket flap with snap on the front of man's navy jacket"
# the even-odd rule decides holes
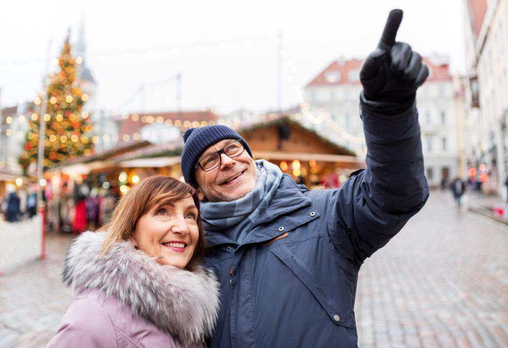
[[[330,320],[336,324],[356,330],[355,315],[353,311],[354,291],[352,281],[347,273],[337,267],[335,279],[326,279],[324,275],[311,270],[307,263],[293,253],[287,245],[280,245],[270,251],[305,284],[316,300],[327,312]],[[319,251],[315,251],[319,252]],[[330,260],[330,266],[334,261]],[[327,265],[321,265],[326,267]],[[317,268],[320,268],[317,265]],[[334,294],[331,290],[334,290]]]

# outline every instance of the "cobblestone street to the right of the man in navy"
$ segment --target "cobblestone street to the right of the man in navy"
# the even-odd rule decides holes
[[[361,348],[508,347],[508,226],[432,191],[362,266],[356,316]]]

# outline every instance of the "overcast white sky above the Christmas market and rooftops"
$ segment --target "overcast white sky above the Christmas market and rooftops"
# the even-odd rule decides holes
[[[394,8],[404,11],[397,41],[422,55],[447,55],[452,73],[464,73],[462,3],[7,2],[0,21],[0,105],[41,92],[69,28],[76,46],[80,23],[85,64],[98,84],[97,108],[108,112],[176,110],[177,74],[185,110],[263,112],[277,110],[280,100],[284,108],[295,106],[305,85],[332,61],[363,59],[375,49]]]

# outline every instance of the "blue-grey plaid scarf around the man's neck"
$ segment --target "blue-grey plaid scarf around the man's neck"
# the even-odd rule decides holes
[[[208,231],[222,231],[238,243],[263,214],[282,179],[280,168],[268,161],[257,160],[258,180],[252,192],[231,202],[202,202],[201,216]]]

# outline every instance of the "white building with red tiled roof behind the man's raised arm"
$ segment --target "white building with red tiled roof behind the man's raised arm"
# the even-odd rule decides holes
[[[429,185],[440,186],[459,176],[456,93],[448,57],[424,58],[430,75],[419,88],[417,105]],[[358,112],[362,85],[357,59],[332,62],[305,88],[302,123],[332,142],[365,156],[363,123]]]

